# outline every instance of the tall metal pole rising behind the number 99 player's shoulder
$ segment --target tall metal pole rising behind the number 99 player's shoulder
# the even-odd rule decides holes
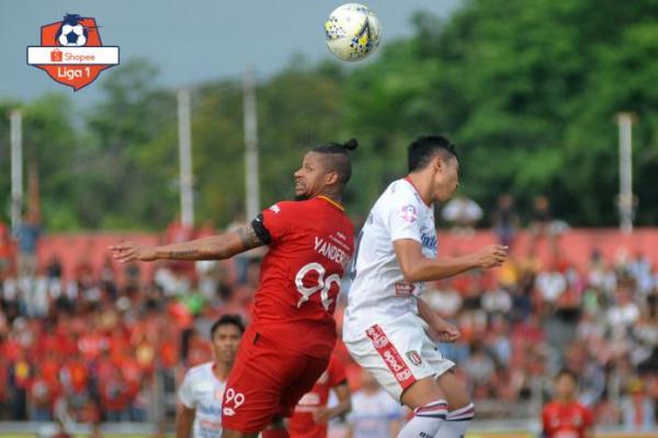
[[[260,191],[258,178],[258,115],[256,90],[251,69],[245,72],[245,184],[247,220],[260,211]]]

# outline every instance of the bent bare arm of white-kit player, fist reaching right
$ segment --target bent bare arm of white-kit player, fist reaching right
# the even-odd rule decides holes
[[[393,242],[405,281],[433,281],[453,277],[466,270],[491,268],[502,265],[507,247],[488,245],[483,250],[460,257],[429,258],[422,255],[420,242],[413,239],[399,239]]]

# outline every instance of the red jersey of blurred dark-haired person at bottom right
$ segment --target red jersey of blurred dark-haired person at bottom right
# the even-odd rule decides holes
[[[544,434],[547,438],[583,438],[592,427],[593,415],[578,402],[551,402],[542,411]]]

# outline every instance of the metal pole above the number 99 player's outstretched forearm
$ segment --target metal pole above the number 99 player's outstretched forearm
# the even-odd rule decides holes
[[[194,224],[194,197],[192,186],[192,131],[190,129],[190,90],[178,92],[179,119],[179,161],[181,186],[181,222],[183,226]]]

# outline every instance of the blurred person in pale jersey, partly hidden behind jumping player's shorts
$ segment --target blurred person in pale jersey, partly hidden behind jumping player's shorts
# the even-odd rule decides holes
[[[404,417],[404,407],[379,387],[370,372],[363,370],[361,390],[352,395],[348,438],[395,438]]]

